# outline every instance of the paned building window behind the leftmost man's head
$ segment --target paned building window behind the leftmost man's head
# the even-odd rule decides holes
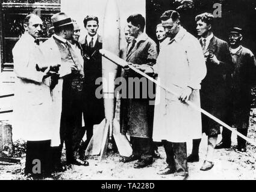
[[[52,14],[60,12],[60,0],[2,0],[0,10],[1,71],[13,70],[11,50],[23,33],[23,19],[35,13],[43,20],[43,35],[40,41],[51,37]]]

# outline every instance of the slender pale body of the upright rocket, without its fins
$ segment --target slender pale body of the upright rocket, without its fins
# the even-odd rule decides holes
[[[120,53],[120,14],[116,0],[108,0],[103,26],[102,48],[119,55]],[[117,77],[117,65],[102,57],[102,79],[105,118],[110,121],[110,137],[112,134],[116,98],[114,97],[114,80]]]

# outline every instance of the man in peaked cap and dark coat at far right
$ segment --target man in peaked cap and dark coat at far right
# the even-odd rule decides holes
[[[239,133],[247,136],[252,96],[251,88],[255,85],[256,60],[251,50],[243,47],[243,32],[241,28],[234,27],[229,30],[229,52],[234,65],[232,73],[232,89],[230,95],[229,118],[231,125]],[[231,131],[223,129],[222,141],[218,148],[229,148],[231,144]],[[237,149],[246,152],[246,140],[237,136]]]

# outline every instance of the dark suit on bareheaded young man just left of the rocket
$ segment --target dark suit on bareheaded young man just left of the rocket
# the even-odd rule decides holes
[[[98,99],[95,91],[96,79],[102,77],[101,36],[98,35],[95,46],[90,48],[86,38],[80,42],[84,53],[84,121],[86,125],[99,124],[105,117],[103,98]]]

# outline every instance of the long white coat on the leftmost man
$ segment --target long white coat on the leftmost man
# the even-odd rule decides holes
[[[60,80],[51,93],[50,78],[43,80],[45,74],[36,70],[36,64],[39,67],[60,64],[61,59],[56,47],[46,46],[48,44],[45,42],[42,45],[44,50],[42,55],[39,47],[34,43],[34,38],[25,33],[13,48],[14,72],[17,76],[13,136],[24,140],[51,139],[51,146],[58,146],[62,82]],[[46,50],[54,53],[48,54]],[[60,73],[63,75],[69,72],[66,68],[60,67]]]

